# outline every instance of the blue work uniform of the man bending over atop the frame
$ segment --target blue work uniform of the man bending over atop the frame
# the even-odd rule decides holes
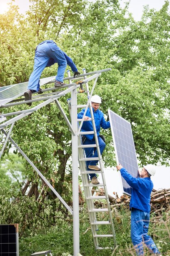
[[[77,72],[76,65],[72,59],[61,51],[52,40],[46,40],[37,45],[35,49],[34,69],[28,81],[28,89],[36,92],[39,90],[39,79],[45,67],[58,63],[56,79],[63,82],[64,72],[67,64],[73,72]]]

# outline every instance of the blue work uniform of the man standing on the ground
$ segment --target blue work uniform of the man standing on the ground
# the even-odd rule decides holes
[[[148,247],[150,252],[160,254],[153,239],[148,236],[150,220],[150,194],[153,189],[153,182],[150,177],[132,177],[124,168],[120,169],[124,180],[132,187],[131,201],[131,239],[135,246],[137,255],[144,255],[143,244]]]

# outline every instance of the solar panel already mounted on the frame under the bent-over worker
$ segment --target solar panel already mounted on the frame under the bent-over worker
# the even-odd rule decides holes
[[[55,76],[40,79],[40,86],[55,79]],[[0,106],[16,99],[27,90],[28,82],[0,87]]]

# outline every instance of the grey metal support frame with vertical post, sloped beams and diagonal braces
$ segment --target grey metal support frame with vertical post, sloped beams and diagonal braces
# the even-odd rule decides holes
[[[85,73],[85,71],[84,71],[84,74],[76,76],[76,79],[79,78],[79,77],[84,78],[82,83],[88,83],[89,81],[95,79],[94,85],[93,85],[92,90],[91,90],[91,94],[90,94],[88,102],[87,102],[87,106],[89,105],[89,101],[92,97],[92,94],[93,94],[98,76],[100,76],[102,72],[107,72],[107,71],[110,71],[110,70],[111,69],[109,68],[109,69],[98,70],[98,71],[89,72],[89,73]],[[87,76],[89,76],[89,75],[92,75],[92,76],[87,78]],[[44,79],[43,81],[47,81],[47,84],[48,84],[48,83],[52,83],[52,79],[53,79],[53,77],[50,77],[50,78],[47,78],[46,80]],[[9,141],[11,141],[11,143],[17,148],[17,150],[22,154],[22,156],[27,160],[27,162],[38,173],[38,175],[41,177],[41,179],[44,180],[44,182],[49,186],[49,188],[59,198],[59,200],[63,203],[63,205],[68,209],[68,211],[71,214],[74,213],[73,214],[73,247],[74,247],[74,256],[77,256],[79,251],[80,251],[80,249],[79,249],[79,247],[80,247],[80,242],[79,242],[79,203],[78,203],[78,135],[80,134],[80,130],[81,130],[81,126],[82,126],[83,122],[81,122],[81,126],[80,126],[80,128],[77,132],[77,90],[76,89],[79,87],[79,84],[72,83],[72,80],[75,80],[75,79],[73,78],[73,76],[70,76],[69,71],[68,71],[68,78],[65,78],[63,80],[69,80],[69,82],[70,82],[70,84],[61,87],[62,89],[64,87],[68,87],[66,90],[61,91],[61,92],[57,92],[57,94],[54,94],[52,96],[40,97],[38,99],[33,99],[31,101],[27,101],[27,103],[28,103],[28,102],[35,102],[35,101],[40,101],[40,100],[43,101],[44,100],[44,102],[40,103],[39,105],[37,105],[34,108],[31,108],[29,110],[23,110],[23,111],[18,111],[18,112],[12,112],[12,113],[9,113],[9,114],[5,114],[6,116],[17,115],[17,117],[13,117],[13,118],[9,119],[8,121],[2,123],[0,125],[0,130],[2,130],[3,134],[7,137],[6,140],[5,140],[5,144],[7,143],[7,140],[9,139]],[[56,88],[54,88],[54,89],[56,90]],[[45,91],[48,91],[48,90],[52,90],[52,88],[45,89],[43,91],[45,92]],[[71,124],[70,124],[70,121],[68,120],[68,117],[65,115],[65,112],[62,109],[62,106],[60,105],[59,101],[57,100],[59,97],[65,96],[65,94],[67,94],[68,92],[71,92],[71,97],[72,97]],[[57,107],[59,108],[61,114],[63,115],[63,118],[65,119],[68,127],[70,128],[70,130],[72,132],[73,211],[72,211],[72,209],[70,209],[68,204],[66,204],[66,202],[61,198],[61,196],[57,193],[57,191],[51,186],[51,184],[48,182],[48,180],[46,180],[46,178],[41,174],[41,172],[37,169],[37,167],[33,164],[33,162],[31,162],[31,160],[26,156],[26,154],[21,150],[21,148],[10,137],[10,133],[11,133],[11,130],[13,128],[13,125],[14,125],[15,121],[18,121],[18,120],[26,117],[27,115],[30,115],[31,113],[39,110],[40,108],[46,106],[47,104],[49,104],[53,101],[55,101]],[[25,104],[25,102],[22,102],[22,101],[17,102],[17,103],[9,103],[9,104],[3,105],[1,108],[20,105],[20,104],[23,104],[23,103]],[[1,115],[1,116],[4,116],[4,115]],[[11,125],[11,128],[9,130],[9,133],[7,133],[4,130],[4,127],[9,126],[10,124],[12,124],[12,125]],[[2,149],[4,150],[4,146],[3,146]],[[1,150],[1,153],[0,153],[1,155],[3,153],[3,150]],[[39,253],[41,253],[41,252],[39,252]],[[32,254],[32,255],[42,255],[42,254]],[[52,255],[52,254],[50,254],[50,255]]]

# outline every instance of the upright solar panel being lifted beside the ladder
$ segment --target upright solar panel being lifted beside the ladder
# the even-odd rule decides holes
[[[108,110],[108,113],[117,164],[120,163],[133,177],[138,177],[138,164],[131,124],[111,110]],[[121,180],[123,192],[131,195],[131,186],[123,177]]]

